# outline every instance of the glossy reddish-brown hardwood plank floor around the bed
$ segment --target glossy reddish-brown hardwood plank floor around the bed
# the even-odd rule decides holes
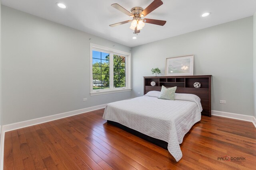
[[[205,117],[185,135],[182,159],[106,123],[104,109],[5,133],[4,170],[255,169],[256,128],[250,122]],[[245,157],[243,161],[221,161]],[[220,158],[219,158],[220,159]]]

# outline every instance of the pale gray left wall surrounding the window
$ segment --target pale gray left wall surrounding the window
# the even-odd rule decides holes
[[[2,6],[3,125],[131,98],[131,92],[90,96],[89,38],[131,50]]]

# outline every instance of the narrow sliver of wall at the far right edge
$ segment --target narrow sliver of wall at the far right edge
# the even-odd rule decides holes
[[[254,88],[254,116],[256,117],[256,13],[253,16],[253,88]]]

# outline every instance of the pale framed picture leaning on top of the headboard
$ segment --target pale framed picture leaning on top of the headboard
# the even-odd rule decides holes
[[[194,55],[166,59],[166,76],[193,76]]]

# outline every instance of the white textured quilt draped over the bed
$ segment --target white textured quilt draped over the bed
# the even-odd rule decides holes
[[[176,94],[175,100],[142,96],[108,104],[103,119],[166,141],[168,151],[178,162],[182,158],[179,144],[201,120],[201,111],[200,98],[193,94]]]

